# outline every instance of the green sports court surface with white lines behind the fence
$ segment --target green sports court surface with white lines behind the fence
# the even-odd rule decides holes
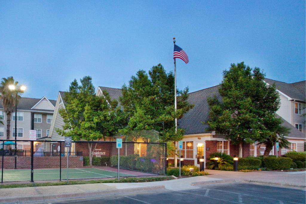
[[[1,169],[0,169],[1,173]],[[132,174],[119,173],[120,176],[135,176]],[[62,180],[67,179],[67,169],[61,171]],[[90,179],[90,178],[111,178],[117,177],[118,173],[114,171],[108,171],[96,168],[79,168],[68,169],[68,179]],[[1,177],[1,174],[0,174]],[[33,170],[34,181],[39,180],[59,180],[60,169],[34,169]],[[30,181],[31,170],[30,169],[4,169],[3,170],[3,182],[12,181]]]

